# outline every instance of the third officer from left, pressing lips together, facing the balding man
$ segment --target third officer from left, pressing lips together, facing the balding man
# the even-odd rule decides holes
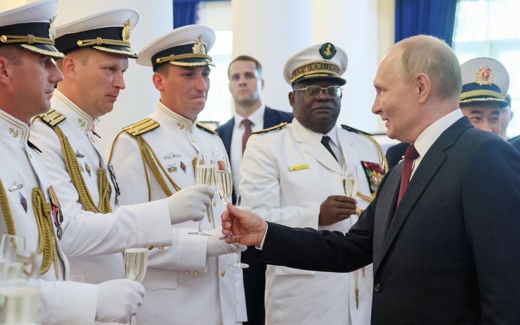
[[[188,25],[139,52],[137,63],[153,69],[161,98],[151,115],[125,127],[112,142],[109,162],[121,187],[133,189],[121,194],[121,203],[159,200],[192,186],[199,151],[226,154],[218,135],[197,123],[210,86],[209,66],[214,64],[208,53],[214,41],[210,28]],[[224,206],[214,200],[212,207],[218,220]],[[198,228],[191,221],[172,228],[175,244],[165,252],[167,265],[148,265],[140,324],[228,325],[246,320],[242,271],[231,266],[237,256],[230,254],[245,246],[219,240],[222,230],[214,225],[210,214],[202,229],[211,236],[190,235]]]

